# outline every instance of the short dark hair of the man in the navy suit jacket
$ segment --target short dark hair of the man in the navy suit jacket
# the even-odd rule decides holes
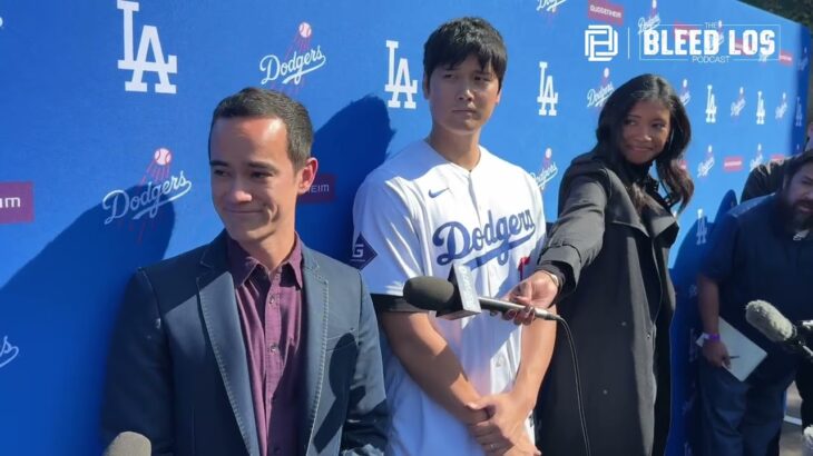
[[[313,125],[305,107],[284,93],[254,87],[246,87],[217,103],[212,113],[212,125],[209,125],[209,153],[212,151],[212,128],[217,119],[241,117],[282,120],[288,137],[288,158],[294,163],[294,169],[302,168],[311,157]]]

